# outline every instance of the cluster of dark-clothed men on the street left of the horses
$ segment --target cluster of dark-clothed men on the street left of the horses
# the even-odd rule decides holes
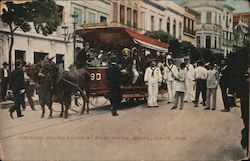
[[[30,78],[31,64],[22,61],[16,61],[15,70],[9,71],[7,62],[4,62],[3,68],[0,69],[0,84],[1,84],[1,102],[6,99],[14,100],[14,106],[9,109],[10,117],[13,119],[13,112],[16,111],[17,117],[23,117],[22,110],[25,111],[25,97],[27,97],[30,108],[35,111],[33,95],[35,90],[35,82]],[[7,92],[12,91],[12,96]],[[22,107],[22,110],[21,110]]]

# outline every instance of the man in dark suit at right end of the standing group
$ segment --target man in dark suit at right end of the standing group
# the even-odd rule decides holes
[[[223,59],[221,61],[221,69],[220,69],[220,88],[221,88],[221,94],[224,104],[224,109],[221,110],[221,112],[229,112],[230,111],[230,105],[228,102],[228,95],[227,90],[230,87],[230,69],[227,65],[226,59]]]

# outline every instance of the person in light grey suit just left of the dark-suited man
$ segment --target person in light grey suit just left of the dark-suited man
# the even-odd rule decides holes
[[[213,63],[209,64],[207,75],[207,107],[204,110],[216,109],[216,91],[219,84],[219,72],[215,69]],[[212,101],[211,101],[212,99]]]

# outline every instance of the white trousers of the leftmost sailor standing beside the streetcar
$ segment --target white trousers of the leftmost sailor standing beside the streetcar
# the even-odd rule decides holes
[[[158,106],[157,96],[158,96],[158,83],[148,84],[148,106]]]

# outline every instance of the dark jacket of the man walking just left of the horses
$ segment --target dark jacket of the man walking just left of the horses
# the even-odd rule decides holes
[[[22,89],[25,89],[24,74],[21,69],[15,69],[11,72],[9,78],[10,89],[17,93]]]

